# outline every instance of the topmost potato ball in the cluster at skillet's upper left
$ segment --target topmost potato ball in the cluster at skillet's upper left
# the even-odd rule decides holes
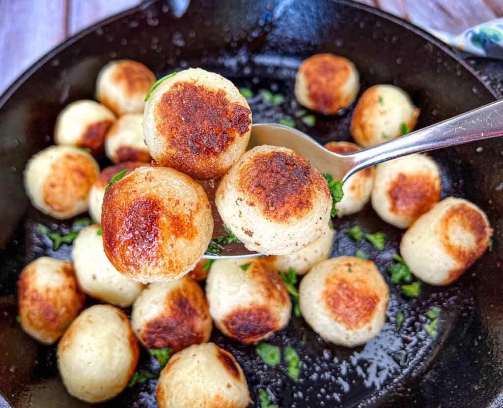
[[[109,62],[96,81],[98,100],[115,112],[143,113],[145,96],[155,83],[155,75],[140,62],[123,59]]]

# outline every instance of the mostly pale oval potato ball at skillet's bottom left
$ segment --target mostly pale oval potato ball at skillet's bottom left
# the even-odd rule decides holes
[[[57,347],[64,386],[70,395],[87,402],[105,401],[126,388],[138,356],[127,316],[108,304],[80,313]]]

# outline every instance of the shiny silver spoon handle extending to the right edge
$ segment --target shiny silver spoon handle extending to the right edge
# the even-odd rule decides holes
[[[501,135],[503,135],[503,100],[416,130],[404,137],[348,154],[347,156],[353,156],[352,166],[343,181],[359,170],[396,157]]]

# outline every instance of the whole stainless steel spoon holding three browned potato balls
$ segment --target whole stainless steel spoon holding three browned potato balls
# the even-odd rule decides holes
[[[503,100],[350,154],[333,153],[305,133],[276,123],[253,125],[248,149],[261,144],[288,147],[306,158],[320,173],[330,173],[334,180],[345,183],[356,172],[383,161],[501,135]],[[263,255],[246,252],[244,247],[241,251],[232,255],[205,255],[203,258],[232,259]]]

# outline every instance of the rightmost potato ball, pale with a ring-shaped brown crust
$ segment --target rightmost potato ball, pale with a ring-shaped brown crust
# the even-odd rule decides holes
[[[489,246],[485,213],[462,198],[449,197],[417,218],[400,242],[410,271],[431,285],[458,279]]]

